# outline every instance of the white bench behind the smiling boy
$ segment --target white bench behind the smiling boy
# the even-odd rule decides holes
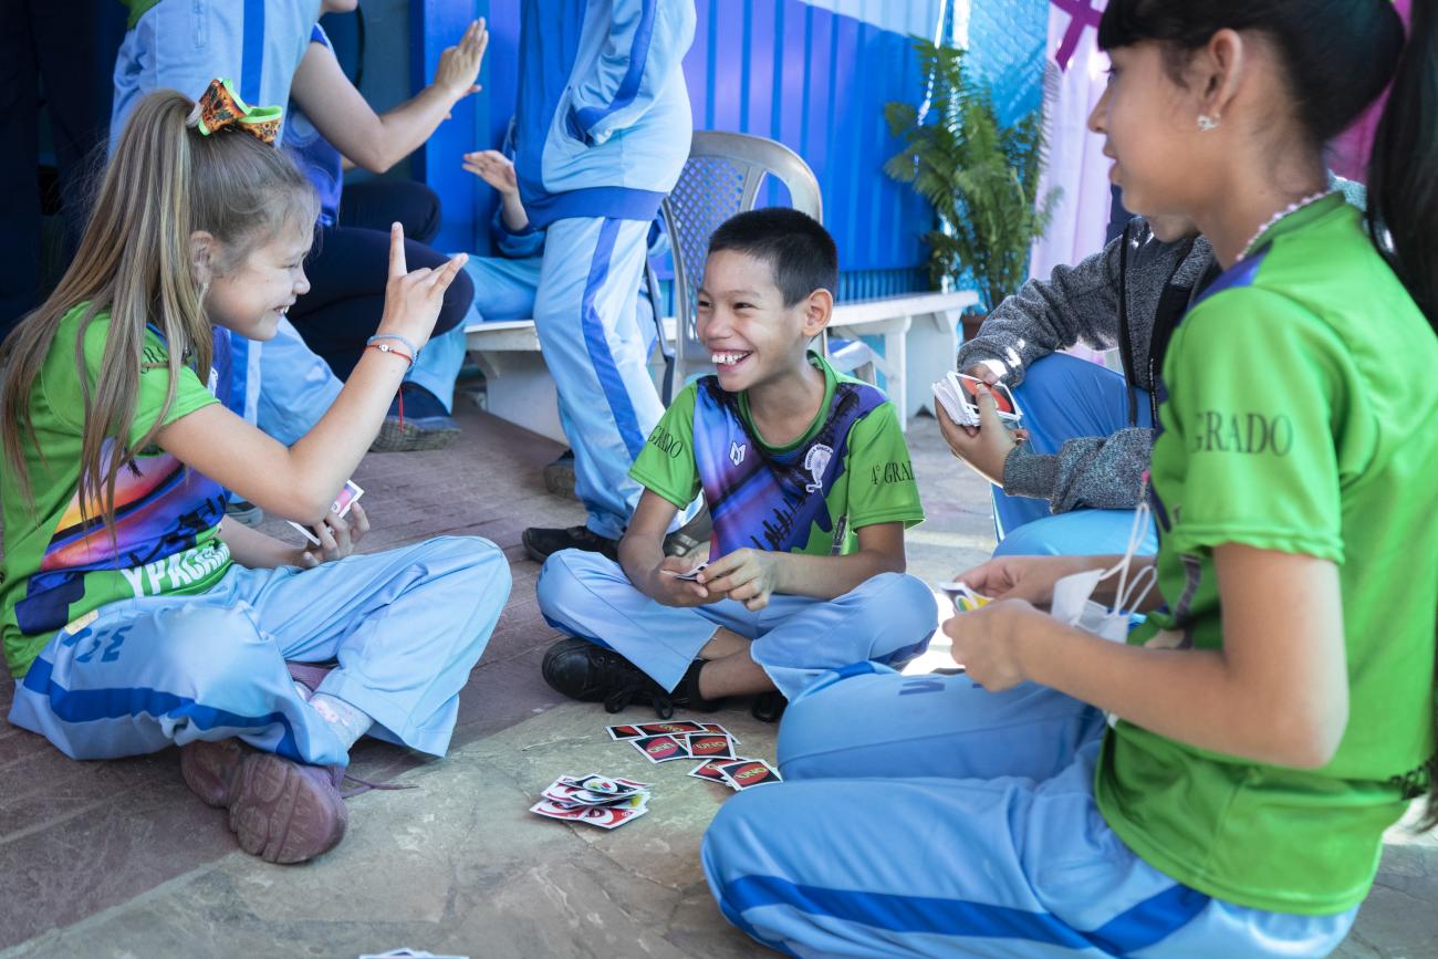
[[[907,423],[919,410],[933,410],[930,385],[953,368],[959,315],[975,303],[974,290],[838,303],[828,329],[843,338],[883,336],[883,352],[873,352],[873,364],[884,377],[884,391],[899,407],[900,423]],[[673,342],[673,318],[664,319],[664,335]],[[464,344],[485,371],[490,413],[565,441],[554,378],[544,365],[532,319],[472,324],[464,328]],[[650,371],[659,382],[664,367],[657,351]]]

